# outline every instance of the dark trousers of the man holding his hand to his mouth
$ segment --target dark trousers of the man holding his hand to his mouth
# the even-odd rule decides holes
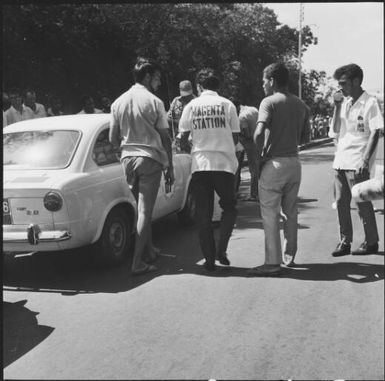
[[[347,173],[349,172],[349,173]],[[351,175],[351,180],[347,179],[347,175]],[[336,170],[335,171],[335,190],[338,220],[340,224],[341,242],[351,243],[353,240],[352,218],[350,214],[350,203],[352,200],[351,187],[354,184],[361,183],[369,179],[369,174],[358,177],[353,175],[352,171]],[[376,217],[374,215],[373,204],[370,201],[357,203],[358,214],[364,225],[365,241],[372,245],[378,242],[378,232]]]

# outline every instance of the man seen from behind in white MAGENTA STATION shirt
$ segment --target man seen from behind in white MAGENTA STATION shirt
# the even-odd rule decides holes
[[[192,137],[192,186],[196,198],[196,220],[199,242],[206,259],[205,268],[215,270],[215,259],[229,265],[226,250],[237,216],[235,173],[238,161],[239,119],[234,104],[218,95],[219,79],[210,68],[202,69],[196,77],[198,98],[184,108],[179,121],[181,148]],[[214,191],[223,209],[220,237],[216,246],[211,219]]]

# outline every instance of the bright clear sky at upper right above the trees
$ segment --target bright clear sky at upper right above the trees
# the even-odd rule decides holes
[[[272,8],[278,21],[299,27],[300,3],[264,3]],[[356,63],[364,71],[362,87],[384,92],[384,4],[303,3],[303,25],[309,25],[318,37],[303,54],[305,70],[324,70],[330,76],[348,63]]]

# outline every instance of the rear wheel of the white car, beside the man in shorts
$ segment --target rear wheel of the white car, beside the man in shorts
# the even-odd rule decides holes
[[[124,208],[115,207],[108,214],[97,242],[99,261],[108,266],[124,263],[132,248],[132,219]]]

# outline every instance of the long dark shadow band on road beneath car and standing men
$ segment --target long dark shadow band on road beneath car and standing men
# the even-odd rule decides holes
[[[383,255],[379,253],[378,255]],[[248,277],[245,267],[218,265],[216,271],[208,272],[203,266],[203,259],[198,239],[190,239],[190,246],[184,250],[180,247],[169,247],[162,254],[154,272],[141,276],[133,276],[130,263],[118,268],[88,268],[51,272],[47,276],[43,270],[29,266],[28,275],[25,273],[12,274],[5,280],[3,290],[56,292],[66,296],[84,293],[119,293],[127,292],[160,276],[175,276],[195,274],[205,277]],[[369,283],[384,279],[384,266],[368,263],[338,262],[338,263],[305,263],[294,268],[283,268],[281,278],[291,278],[302,281],[337,281],[347,280],[353,283]]]

